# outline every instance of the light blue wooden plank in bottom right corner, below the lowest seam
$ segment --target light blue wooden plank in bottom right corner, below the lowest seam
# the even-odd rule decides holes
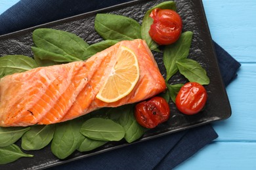
[[[178,165],[183,169],[256,169],[256,143],[221,143],[205,146],[200,152]]]

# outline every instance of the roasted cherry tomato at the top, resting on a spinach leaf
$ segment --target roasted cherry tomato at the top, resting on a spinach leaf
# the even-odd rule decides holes
[[[154,9],[150,13],[153,24],[148,32],[150,37],[160,45],[172,44],[181,36],[182,20],[177,12],[171,9]]]

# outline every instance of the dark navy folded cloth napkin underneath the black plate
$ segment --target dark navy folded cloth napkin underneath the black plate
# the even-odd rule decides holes
[[[1,14],[0,35],[127,1],[131,0],[21,0]],[[227,86],[236,76],[240,63],[213,43]],[[217,137],[208,124],[58,165],[53,169],[173,169]]]

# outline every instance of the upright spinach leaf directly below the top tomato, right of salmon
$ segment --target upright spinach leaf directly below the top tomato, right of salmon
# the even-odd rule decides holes
[[[181,34],[181,37],[174,44],[165,46],[163,49],[163,63],[167,71],[166,80],[175,75],[178,71],[177,61],[188,57],[192,42],[191,31],[186,31]]]

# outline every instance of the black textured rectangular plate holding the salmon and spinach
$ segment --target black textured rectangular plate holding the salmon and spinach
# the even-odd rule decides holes
[[[163,0],[148,1],[140,0],[122,5],[116,5],[107,9],[96,10],[93,12],[81,14],[64,20],[58,20],[49,24],[43,24],[22,31],[17,31],[8,35],[0,36],[0,56],[11,54],[23,54],[33,56],[31,46],[32,31],[38,27],[51,27],[75,33],[83,38],[89,44],[101,41],[102,39],[94,30],[94,20],[96,13],[112,13],[122,14],[131,17],[138,22],[142,22],[142,18],[146,10],[154,7]],[[203,5],[201,0],[177,0],[177,11],[181,14],[183,22],[183,31],[193,31],[192,47],[190,49],[189,58],[198,61],[207,71],[211,82],[205,86],[208,93],[208,100],[205,109],[194,116],[186,116],[181,114],[173,103],[171,106],[171,118],[169,121],[160,126],[146,132],[144,136],[137,142],[146,141],[154,137],[174,133],[195,126],[200,126],[216,120],[224,120],[231,115],[230,103],[226,95],[221,74],[217,64],[217,58],[211,41],[211,35],[205,18]],[[161,73],[165,76],[165,68],[162,62],[162,55],[154,53],[156,61],[160,67]],[[184,83],[186,80],[183,76],[177,74],[170,80],[170,84]],[[20,145],[20,141],[17,143]],[[43,169],[65,163],[68,161],[85,158],[94,154],[126,146],[128,143],[120,141],[117,143],[108,143],[91,152],[74,152],[66,160],[58,160],[52,153],[51,147],[47,146],[41,150],[29,151],[26,153],[33,154],[33,158],[20,158],[7,165],[0,165],[0,169]]]

